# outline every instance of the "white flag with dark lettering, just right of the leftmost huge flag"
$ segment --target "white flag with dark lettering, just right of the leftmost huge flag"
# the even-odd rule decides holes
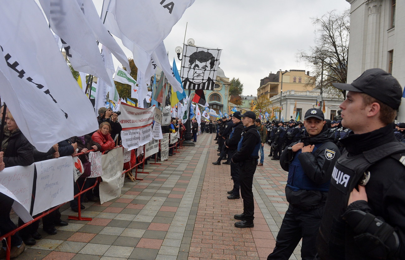
[[[20,1],[16,1],[20,2]],[[25,4],[28,1],[21,1]],[[39,0],[51,29],[61,38],[66,56],[76,71],[94,75],[109,86],[93,30],[76,1]]]

